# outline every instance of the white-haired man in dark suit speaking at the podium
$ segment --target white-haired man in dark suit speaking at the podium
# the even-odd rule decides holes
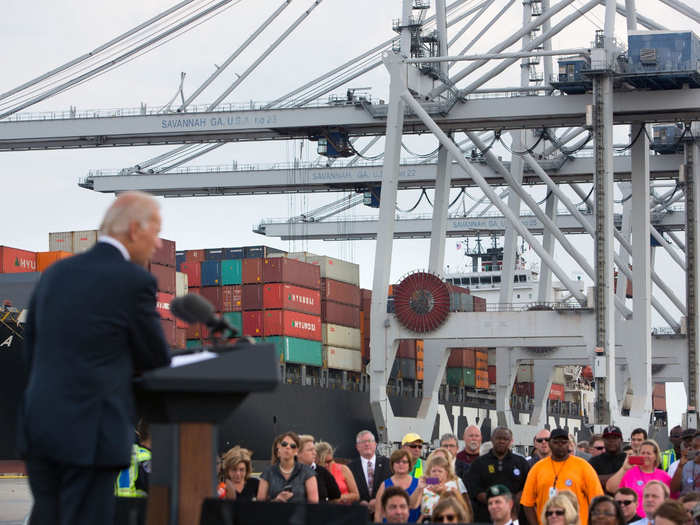
[[[34,290],[19,429],[32,525],[114,521],[114,482],[134,436],[132,377],[170,363],[156,280],[144,268],[160,223],[155,199],[122,194],[97,244],[49,267]]]

